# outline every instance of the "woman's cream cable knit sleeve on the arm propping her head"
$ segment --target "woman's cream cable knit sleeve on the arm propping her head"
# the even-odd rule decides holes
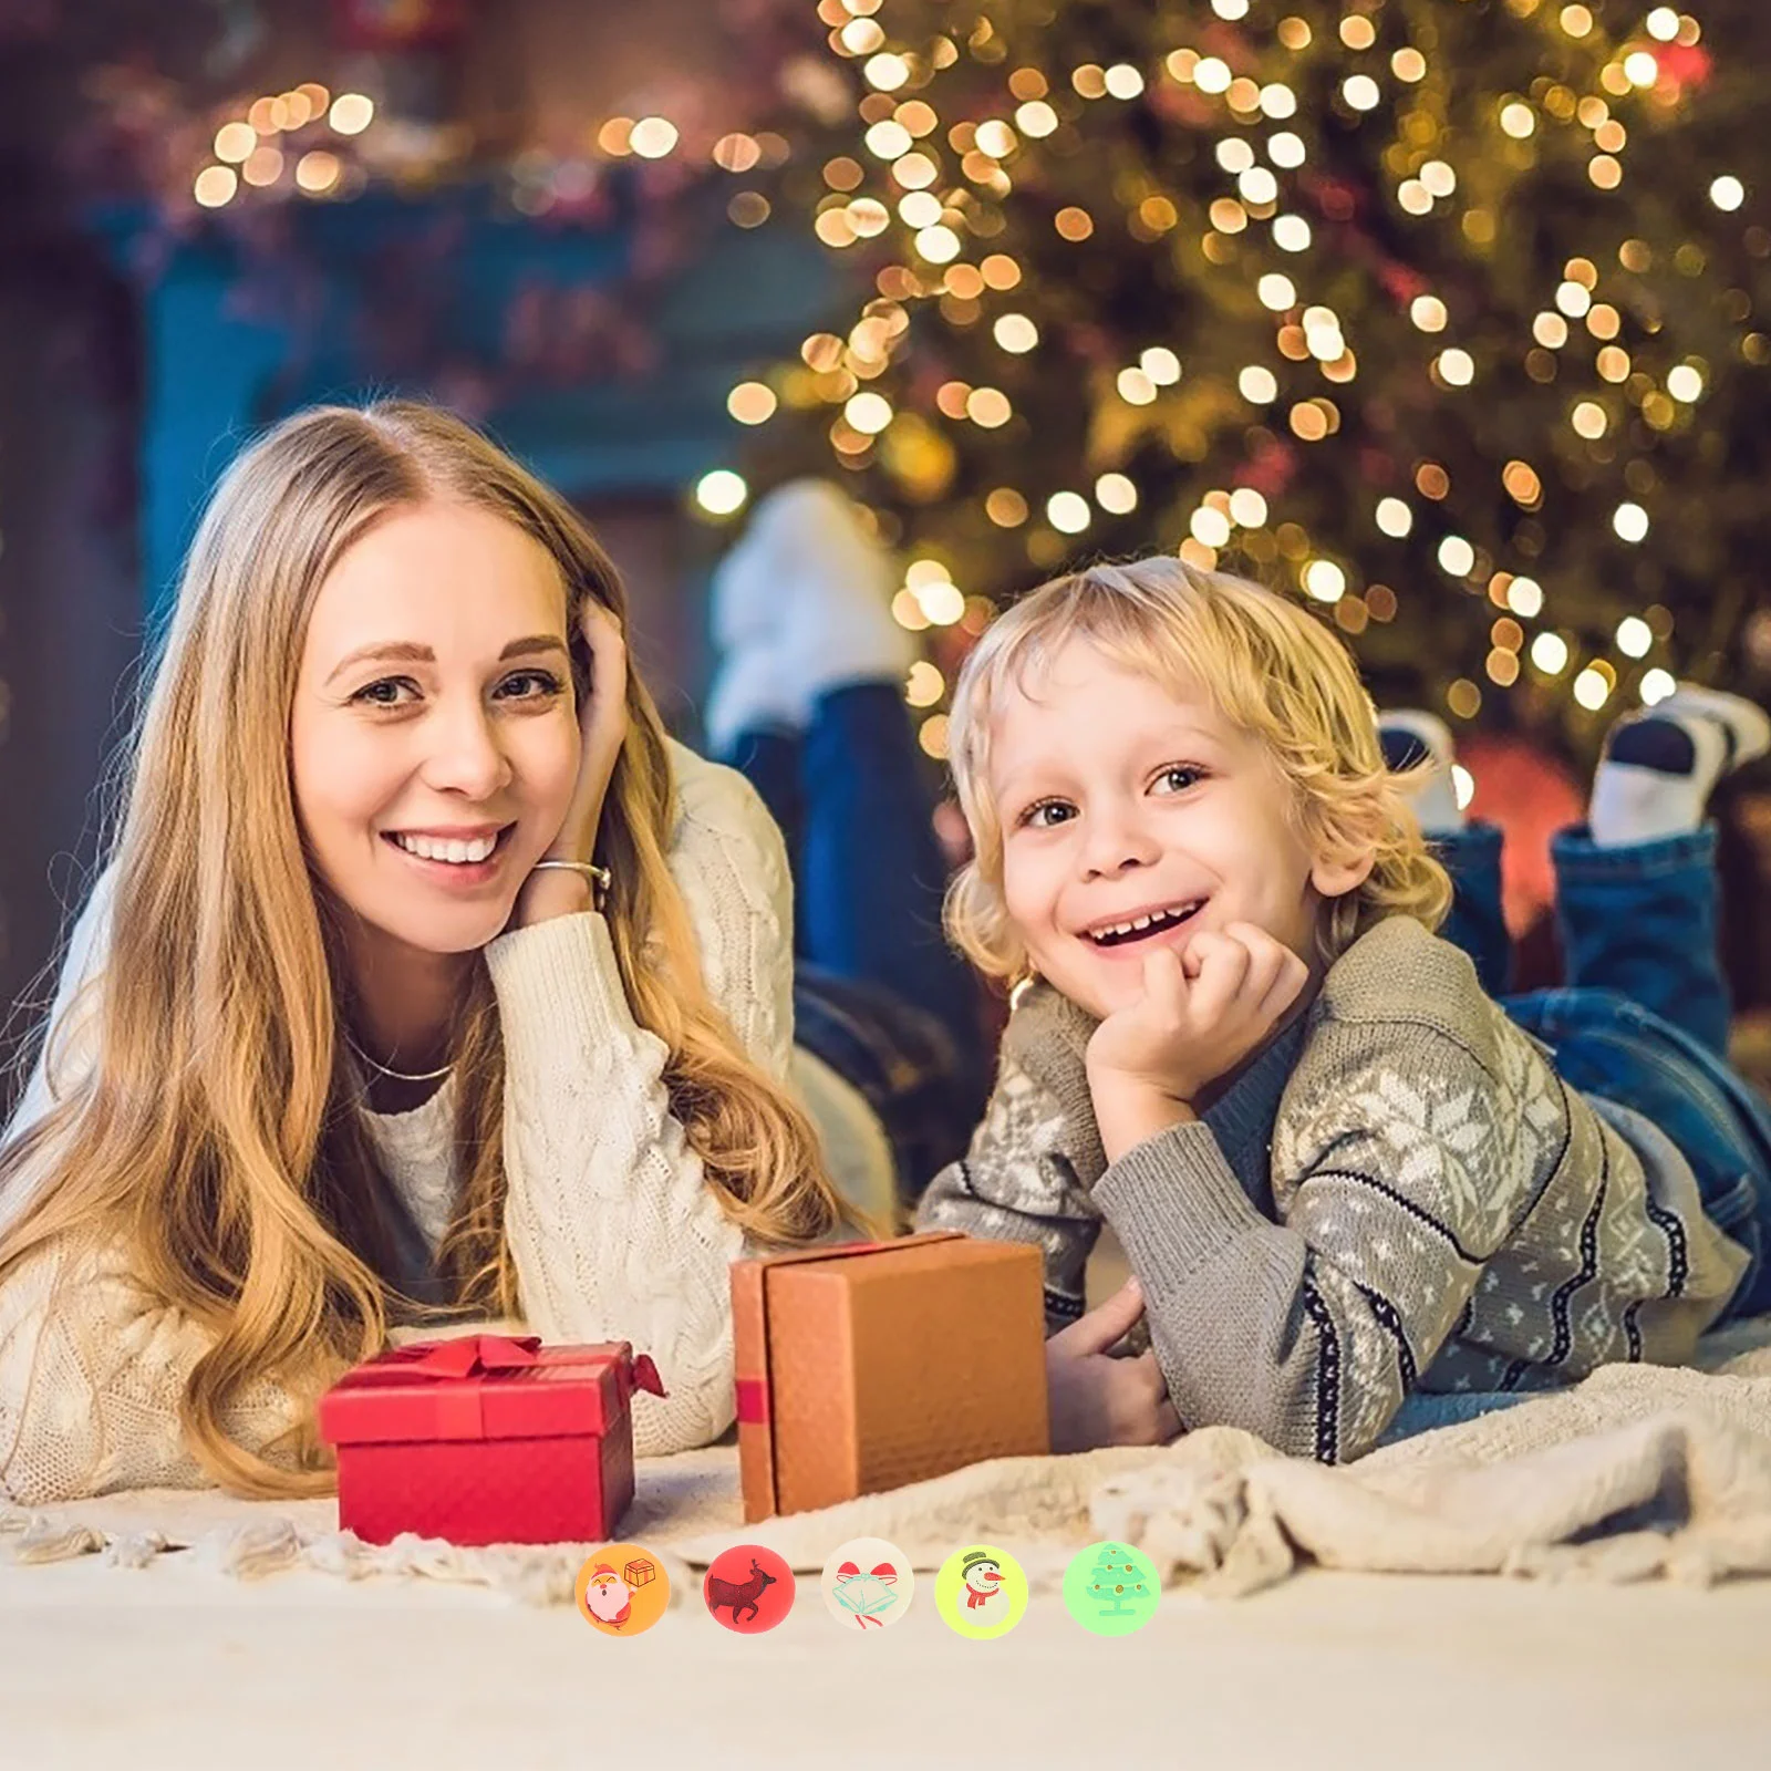
[[[731,770],[694,760],[671,857],[715,1001],[785,1075],[792,901],[781,836]],[[641,1027],[607,923],[553,917],[487,949],[505,1036],[505,1227],[522,1312],[544,1339],[632,1341],[668,1397],[634,1397],[639,1456],[733,1419],[731,1279],[742,1233],[671,1114],[668,1048]]]

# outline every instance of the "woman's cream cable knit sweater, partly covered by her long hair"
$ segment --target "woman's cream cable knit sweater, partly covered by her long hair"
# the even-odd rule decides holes
[[[792,886],[781,834],[733,770],[671,746],[680,816],[669,855],[687,900],[708,986],[763,1068],[811,1100],[831,1165],[850,1194],[889,1195],[889,1149],[855,1091],[795,1054]],[[80,985],[103,971],[110,877],[81,914],[51,1020],[57,1079],[92,1063],[92,1029],[69,1017]],[[634,1022],[600,916],[561,916],[487,949],[507,1052],[507,1233],[526,1325],[547,1341],[632,1341],[669,1390],[634,1399],[641,1456],[707,1443],[731,1420],[728,1264],[744,1240],[726,1220],[671,1116],[664,1045]],[[89,997],[90,1001],[90,997]],[[50,1105],[44,1063],[7,1139]],[[453,1079],[421,1107],[370,1114],[386,1172],[429,1250],[453,1208]],[[41,1171],[0,1199],[0,1224]],[[78,1272],[44,1250],[0,1288],[0,1495],[48,1504],[122,1488],[202,1486],[179,1433],[179,1394],[204,1330],[159,1307],[120,1252]],[[62,1280],[55,1309],[51,1286]],[[260,1385],[228,1431],[262,1449],[292,1419]]]

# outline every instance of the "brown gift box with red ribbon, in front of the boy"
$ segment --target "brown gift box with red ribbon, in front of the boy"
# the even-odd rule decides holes
[[[746,1521],[1050,1449],[1045,1272],[958,1231],[731,1266]]]

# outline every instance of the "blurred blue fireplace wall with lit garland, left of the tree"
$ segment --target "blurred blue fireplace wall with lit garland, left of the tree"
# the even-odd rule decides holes
[[[195,512],[294,404],[494,427],[618,545],[692,724],[682,489],[733,365],[822,299],[822,248],[728,205],[785,159],[777,112],[847,104],[824,60],[800,0],[0,0],[0,1059]]]

